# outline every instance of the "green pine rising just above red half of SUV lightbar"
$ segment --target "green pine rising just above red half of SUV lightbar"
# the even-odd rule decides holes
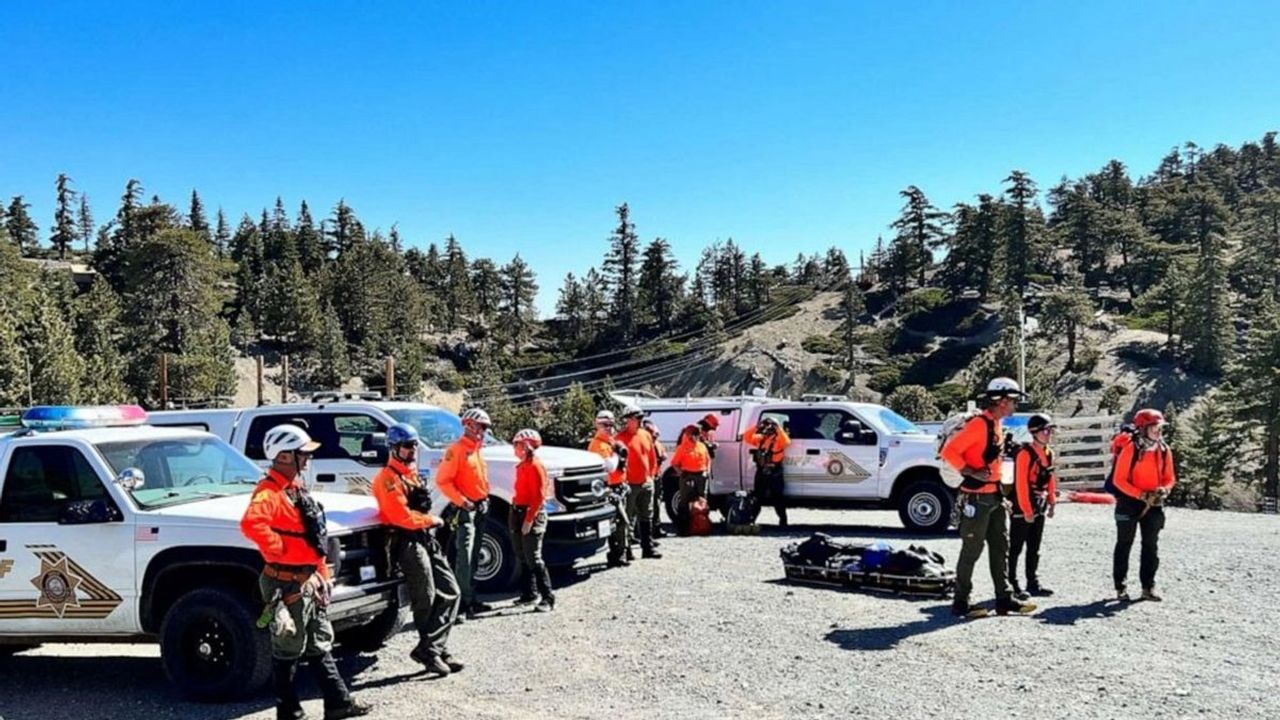
[[[120,300],[105,279],[95,279],[88,292],[76,300],[74,331],[76,350],[84,359],[81,401],[123,402],[128,391],[120,354]]]

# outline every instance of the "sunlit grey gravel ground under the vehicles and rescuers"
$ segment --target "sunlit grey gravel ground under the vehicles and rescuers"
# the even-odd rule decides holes
[[[470,666],[452,678],[416,674],[412,633],[340,665],[380,717],[1280,716],[1276,518],[1171,510],[1165,602],[1121,607],[1108,600],[1110,509],[1064,506],[1042,564],[1059,594],[1028,618],[974,621],[936,600],[782,583],[778,548],[815,529],[918,539],[890,512],[792,518],[786,533],[671,538],[663,560],[562,578],[552,615],[504,602],[456,629]],[[954,566],[955,537],[927,544]],[[975,600],[989,600],[984,568]],[[184,703],[148,646],[46,646],[0,667],[6,720],[274,716],[265,697]]]

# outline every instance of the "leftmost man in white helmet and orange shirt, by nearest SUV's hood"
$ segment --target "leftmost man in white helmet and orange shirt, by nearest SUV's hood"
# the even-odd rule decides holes
[[[265,561],[259,589],[271,621],[271,675],[276,719],[306,717],[296,675],[306,657],[324,694],[325,720],[369,715],[355,701],[333,661],[329,594],[333,580],[325,564],[324,509],[302,484],[311,455],[320,443],[297,425],[276,425],[262,437],[262,454],[271,461],[253,489],[241,519],[241,532],[257,546]],[[265,616],[266,614],[264,614]]]

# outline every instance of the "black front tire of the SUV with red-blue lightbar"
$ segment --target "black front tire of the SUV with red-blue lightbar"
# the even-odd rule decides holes
[[[178,691],[219,702],[260,691],[271,675],[271,642],[255,607],[230,588],[201,588],[173,603],[160,624],[160,661]]]

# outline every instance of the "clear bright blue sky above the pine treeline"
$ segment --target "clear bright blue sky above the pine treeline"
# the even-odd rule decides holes
[[[948,208],[1280,129],[1280,4],[1119,5],[6,4],[0,196],[42,234],[59,172],[99,222],[131,177],[233,222],[346,197],[411,245],[522,254],[544,311],[622,201],[686,266],[728,237],[856,259],[911,183]]]

